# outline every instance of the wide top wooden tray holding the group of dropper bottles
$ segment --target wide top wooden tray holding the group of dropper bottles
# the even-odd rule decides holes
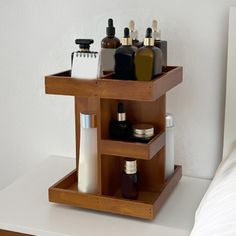
[[[168,66],[162,75],[151,81],[124,81],[109,77],[77,79],[70,77],[70,71],[65,71],[45,76],[45,91],[47,94],[155,101],[182,82],[182,73],[182,67]]]

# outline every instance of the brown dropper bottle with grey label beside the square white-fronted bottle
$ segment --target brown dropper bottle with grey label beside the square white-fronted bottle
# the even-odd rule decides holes
[[[115,51],[120,44],[120,40],[115,37],[115,27],[113,20],[108,19],[108,27],[106,28],[107,37],[101,41],[100,51],[100,77],[106,72],[114,71],[115,67]]]

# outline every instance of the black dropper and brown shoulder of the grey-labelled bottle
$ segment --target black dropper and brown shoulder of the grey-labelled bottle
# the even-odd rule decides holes
[[[108,19],[108,27],[106,28],[107,36],[101,41],[101,48],[118,48],[120,46],[120,40],[115,37],[115,27],[113,26],[113,20]]]

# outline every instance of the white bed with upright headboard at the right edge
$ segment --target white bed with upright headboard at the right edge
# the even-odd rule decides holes
[[[236,7],[230,8],[223,160],[195,214],[191,236],[236,235]]]

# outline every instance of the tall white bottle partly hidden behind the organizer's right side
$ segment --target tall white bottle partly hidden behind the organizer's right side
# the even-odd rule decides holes
[[[166,114],[166,162],[165,178],[167,179],[174,173],[174,118],[170,113]]]

